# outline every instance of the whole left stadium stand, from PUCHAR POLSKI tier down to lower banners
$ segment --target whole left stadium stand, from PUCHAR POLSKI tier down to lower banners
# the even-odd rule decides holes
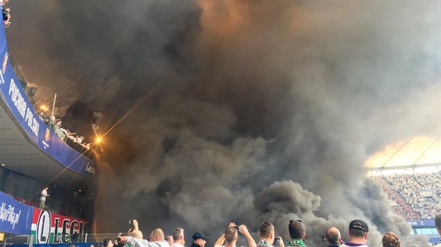
[[[94,153],[68,144],[34,103],[36,89],[12,61],[4,28],[0,57],[0,242],[80,241],[94,217]],[[50,196],[40,210],[46,186]]]

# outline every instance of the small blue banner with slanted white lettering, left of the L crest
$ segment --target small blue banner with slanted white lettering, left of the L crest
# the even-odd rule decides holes
[[[34,208],[0,192],[0,232],[29,235]]]

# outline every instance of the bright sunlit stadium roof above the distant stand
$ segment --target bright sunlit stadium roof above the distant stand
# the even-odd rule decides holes
[[[392,168],[441,163],[440,138],[420,136],[389,144],[366,162],[367,168]]]

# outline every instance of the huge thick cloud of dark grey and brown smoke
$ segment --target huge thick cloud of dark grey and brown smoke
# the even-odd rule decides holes
[[[362,164],[441,135],[438,3],[10,4],[12,56],[43,99],[65,89],[63,124],[107,131],[130,112],[102,144],[99,231],[136,218],[144,235],[181,226],[216,239],[229,222],[256,234],[267,220],[287,239],[302,219],[318,246],[361,218],[371,246],[389,230],[406,241]]]

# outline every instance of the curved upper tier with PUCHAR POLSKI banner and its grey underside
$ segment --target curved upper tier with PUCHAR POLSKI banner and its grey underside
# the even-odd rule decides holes
[[[40,181],[87,191],[94,161],[69,147],[37,116],[9,56],[0,28],[0,164]]]

